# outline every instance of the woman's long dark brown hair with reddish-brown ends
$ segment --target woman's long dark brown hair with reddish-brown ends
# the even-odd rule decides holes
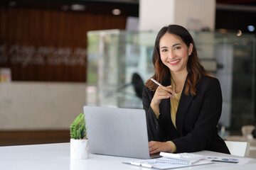
[[[152,78],[156,79],[156,81],[159,81],[161,84],[162,82],[166,81],[166,79],[171,77],[170,69],[164,65],[160,57],[159,42],[165,33],[177,35],[179,38],[181,38],[187,47],[189,47],[191,43],[193,44],[193,50],[191,55],[188,57],[187,63],[188,79],[186,83],[185,94],[196,95],[196,83],[201,79],[201,76],[207,75],[211,77],[211,75],[206,72],[206,69],[204,69],[203,66],[199,63],[195,42],[193,41],[191,34],[188,33],[188,30],[183,28],[183,26],[169,25],[159,30],[159,33],[156,36],[154,51],[152,55],[152,62],[155,68],[155,74]],[[154,84],[154,82],[149,79],[146,81],[146,86],[149,87],[149,90],[156,91],[158,85]]]

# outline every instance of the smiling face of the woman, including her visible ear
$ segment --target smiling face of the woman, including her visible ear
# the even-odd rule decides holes
[[[192,43],[189,47],[177,35],[165,33],[159,42],[161,61],[173,73],[188,73],[188,55],[191,55]]]

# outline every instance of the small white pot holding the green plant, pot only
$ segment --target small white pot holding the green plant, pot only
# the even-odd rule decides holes
[[[88,159],[89,158],[89,140],[70,139],[70,158]]]

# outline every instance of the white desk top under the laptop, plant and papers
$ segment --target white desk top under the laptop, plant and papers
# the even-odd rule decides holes
[[[202,151],[200,154],[212,155],[218,157],[230,157],[227,154],[217,152]],[[124,161],[133,160],[127,157],[110,157],[98,154],[90,154],[89,159],[70,160],[70,143],[46,144],[46,145],[22,145],[11,147],[0,147],[0,169],[26,169],[26,170],[65,170],[65,169],[86,169],[86,170],[126,170],[126,169],[144,169],[139,166],[122,164]],[[182,169],[182,168],[181,168]],[[202,166],[192,166],[183,169],[232,169],[246,170],[256,169],[256,159],[250,160],[247,164],[208,164]],[[178,169],[180,170],[180,169]]]

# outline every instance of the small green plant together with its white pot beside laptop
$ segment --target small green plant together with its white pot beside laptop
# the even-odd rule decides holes
[[[70,125],[70,158],[72,159],[89,158],[89,140],[85,125],[85,115],[82,113]]]

